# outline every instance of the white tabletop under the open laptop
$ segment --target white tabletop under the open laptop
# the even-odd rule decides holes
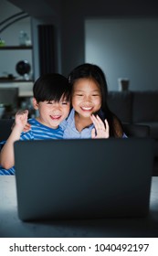
[[[0,237],[158,238],[158,176],[153,177],[150,214],[144,219],[22,222],[17,217],[15,176],[0,176]]]

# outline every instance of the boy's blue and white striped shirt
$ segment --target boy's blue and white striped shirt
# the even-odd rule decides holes
[[[26,133],[21,133],[20,140],[51,140],[51,139],[62,139],[63,130],[59,126],[58,129],[49,128],[46,125],[37,122],[36,119],[28,119],[28,123],[31,124],[31,130]],[[1,143],[5,144],[5,141]],[[15,167],[5,170],[0,166],[0,176],[2,175],[15,175]]]

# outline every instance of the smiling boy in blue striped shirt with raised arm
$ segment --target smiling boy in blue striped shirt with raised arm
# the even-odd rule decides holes
[[[70,87],[68,80],[60,74],[46,74],[34,84],[33,106],[38,111],[36,119],[28,119],[30,130],[24,132],[28,111],[17,112],[12,133],[5,142],[0,155],[0,175],[15,174],[14,143],[17,140],[62,139],[59,124],[68,117]]]

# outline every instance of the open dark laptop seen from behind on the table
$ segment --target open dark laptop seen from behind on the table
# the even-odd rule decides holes
[[[73,139],[15,143],[19,219],[145,217],[153,140]]]

